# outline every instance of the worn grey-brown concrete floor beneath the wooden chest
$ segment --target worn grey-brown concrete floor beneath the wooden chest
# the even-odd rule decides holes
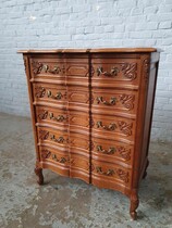
[[[34,174],[30,119],[0,114],[0,228],[172,227],[172,144],[151,143],[139,190],[138,220],[123,194],[45,170]]]

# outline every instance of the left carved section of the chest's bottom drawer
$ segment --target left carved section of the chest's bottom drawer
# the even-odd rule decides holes
[[[67,151],[63,152],[40,145],[39,154],[44,168],[50,168],[60,175],[70,176],[70,156]]]

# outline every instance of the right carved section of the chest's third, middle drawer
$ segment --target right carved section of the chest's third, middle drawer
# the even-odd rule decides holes
[[[127,143],[135,137],[135,121],[133,119],[93,114],[91,126],[93,136],[98,134],[109,140],[122,140]]]

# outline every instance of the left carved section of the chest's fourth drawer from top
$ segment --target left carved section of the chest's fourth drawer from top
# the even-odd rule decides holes
[[[37,127],[39,144],[56,145],[60,150],[66,150],[69,137],[66,130],[57,130],[49,127]]]

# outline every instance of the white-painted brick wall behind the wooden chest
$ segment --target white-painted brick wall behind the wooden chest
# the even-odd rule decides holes
[[[172,0],[1,0],[0,111],[29,116],[19,49],[161,48],[151,137],[172,141]]]

